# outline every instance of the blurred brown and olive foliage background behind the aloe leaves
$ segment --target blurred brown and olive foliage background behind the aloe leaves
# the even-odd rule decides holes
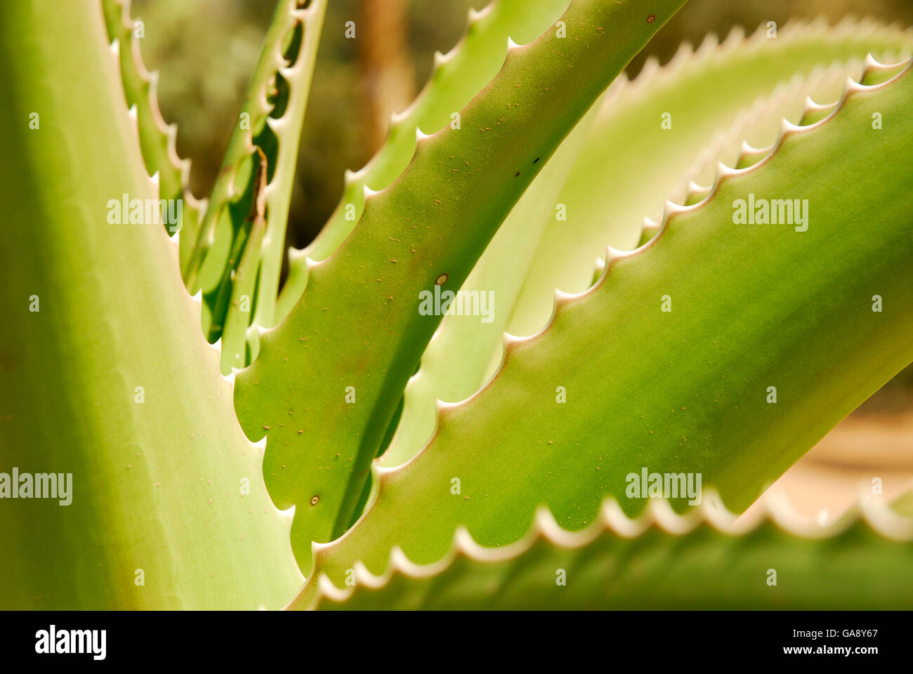
[[[390,114],[404,110],[424,86],[434,52],[454,47],[465,31],[468,9],[487,4],[330,0],[301,139],[290,245],[304,247],[317,234],[337,205],[345,169],[358,170],[371,158]],[[148,68],[161,72],[160,106],[165,121],[178,124],[178,152],[193,160],[191,185],[197,196],[212,187],[274,7],[273,0],[133,0],[132,16],[145,25],[142,55]],[[649,56],[665,63],[682,41],[697,47],[708,33],[723,39],[733,26],[751,33],[768,21],[784,26],[790,19],[817,16],[831,23],[870,16],[911,26],[913,2],[690,0],[628,73],[635,76]],[[355,39],[345,37],[347,21],[356,24]],[[908,367],[859,413],[904,416],[913,448],[911,409],[913,367]]]

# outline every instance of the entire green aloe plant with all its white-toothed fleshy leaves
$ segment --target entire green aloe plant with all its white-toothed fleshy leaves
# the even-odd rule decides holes
[[[913,361],[913,33],[629,79],[684,3],[471,12],[281,288],[327,1],[206,199],[129,3],[0,7],[2,606],[911,606],[909,497],[738,514]]]

